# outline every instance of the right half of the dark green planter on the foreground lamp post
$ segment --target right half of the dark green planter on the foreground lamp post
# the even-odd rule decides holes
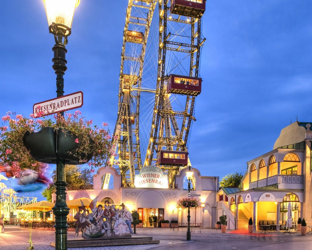
[[[65,160],[68,164],[84,164],[79,162],[79,158],[75,157],[70,152],[75,152],[78,149],[79,144],[75,142],[78,137],[76,135],[71,134],[70,131],[64,131],[64,129],[59,128],[58,136],[57,136],[57,151],[60,159]],[[89,138],[89,143],[92,145],[91,149],[95,149],[94,141]],[[88,162],[92,159],[93,153],[91,152],[88,155],[81,155],[81,158],[85,158]]]

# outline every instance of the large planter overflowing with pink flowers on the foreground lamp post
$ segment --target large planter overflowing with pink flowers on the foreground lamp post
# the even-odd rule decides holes
[[[94,167],[106,164],[114,149],[110,149],[109,130],[92,125],[92,120],[80,115],[77,110],[64,117],[57,114],[34,118],[31,114],[27,118],[8,112],[0,127],[0,164],[31,168],[37,162],[56,163],[56,159],[63,159],[66,164],[90,160],[88,164],[94,172]]]

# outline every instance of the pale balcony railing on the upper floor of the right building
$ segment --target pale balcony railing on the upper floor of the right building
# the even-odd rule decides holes
[[[303,184],[303,175],[277,174],[249,183],[249,189],[261,188],[275,184]]]

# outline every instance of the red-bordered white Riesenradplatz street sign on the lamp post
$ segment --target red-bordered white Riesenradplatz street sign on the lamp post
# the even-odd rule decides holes
[[[39,116],[51,115],[66,110],[80,108],[82,105],[83,93],[82,91],[78,91],[65,96],[35,103],[33,105],[33,114],[34,117],[37,118]]]

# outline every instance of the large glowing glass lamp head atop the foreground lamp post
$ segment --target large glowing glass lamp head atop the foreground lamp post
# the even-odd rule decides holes
[[[52,23],[56,23],[59,28],[66,30],[64,35],[70,35],[68,29],[71,29],[75,9],[79,5],[80,0],[43,0],[43,3],[49,27]],[[53,33],[51,28],[50,32]]]

